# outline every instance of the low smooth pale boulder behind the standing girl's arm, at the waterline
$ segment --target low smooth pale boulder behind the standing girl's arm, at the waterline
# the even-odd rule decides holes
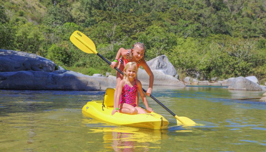
[[[172,85],[172,86],[185,86],[182,81],[177,78],[165,74],[163,70],[152,70],[154,75],[153,85]],[[149,85],[150,77],[147,72],[139,68],[138,79],[141,81],[142,85]]]

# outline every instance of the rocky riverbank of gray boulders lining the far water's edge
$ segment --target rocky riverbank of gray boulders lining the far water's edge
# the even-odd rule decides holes
[[[229,78],[219,81],[198,81],[186,77],[179,81],[173,65],[165,55],[147,61],[154,74],[154,85],[220,85],[235,90],[266,90],[255,76]],[[84,75],[68,71],[36,54],[0,49],[0,89],[60,89],[60,90],[105,90],[115,88],[116,77],[112,75]],[[149,84],[149,76],[145,70],[139,69],[138,79],[142,85]]]

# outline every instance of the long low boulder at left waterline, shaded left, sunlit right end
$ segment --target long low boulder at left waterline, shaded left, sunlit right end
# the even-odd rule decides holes
[[[105,90],[115,86],[114,76],[88,76],[67,70],[0,72],[1,89]]]

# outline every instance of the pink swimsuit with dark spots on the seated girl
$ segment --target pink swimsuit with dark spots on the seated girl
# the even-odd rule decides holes
[[[136,105],[136,94],[137,94],[138,86],[137,86],[135,79],[134,81],[135,81],[135,85],[132,88],[127,84],[124,85],[122,89],[119,104],[127,103],[129,105],[132,105],[133,107],[137,106]]]

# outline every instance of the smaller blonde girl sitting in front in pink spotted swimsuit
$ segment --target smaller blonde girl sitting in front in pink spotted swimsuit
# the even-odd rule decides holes
[[[112,115],[115,112],[122,112],[131,115],[146,113],[146,111],[136,104],[137,90],[139,90],[140,96],[148,112],[153,112],[149,107],[146,96],[142,91],[142,85],[139,80],[136,80],[138,67],[135,62],[128,62],[124,68],[124,78],[120,81],[117,87],[116,100],[114,101],[114,109]]]

